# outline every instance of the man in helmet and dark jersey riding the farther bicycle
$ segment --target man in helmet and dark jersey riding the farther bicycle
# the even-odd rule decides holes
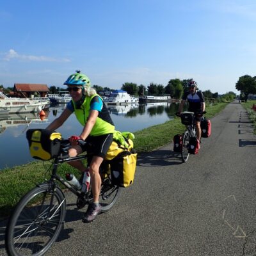
[[[201,127],[200,122],[202,120],[202,115],[196,116],[205,111],[205,100],[202,92],[196,92],[197,83],[193,80],[190,80],[188,83],[189,92],[184,92],[182,100],[180,102],[178,113],[182,112],[185,102],[188,100],[188,111],[195,113],[196,118],[196,137],[198,141],[201,142]]]

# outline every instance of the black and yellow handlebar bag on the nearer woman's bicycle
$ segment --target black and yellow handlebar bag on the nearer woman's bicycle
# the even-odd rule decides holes
[[[29,129],[26,133],[31,157],[50,160],[58,156],[61,146],[61,134],[46,129]]]

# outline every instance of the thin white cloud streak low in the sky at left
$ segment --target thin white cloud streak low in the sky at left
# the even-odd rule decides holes
[[[10,61],[14,59],[20,60],[20,61],[48,61],[48,62],[69,62],[70,61],[66,58],[56,59],[56,58],[51,58],[46,56],[18,54],[13,49],[10,49],[10,51],[5,54],[4,60]]]

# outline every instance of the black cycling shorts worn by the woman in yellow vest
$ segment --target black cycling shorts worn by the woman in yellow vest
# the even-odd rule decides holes
[[[100,136],[88,136],[85,140],[91,144],[92,147],[88,148],[88,145],[82,146],[83,152],[86,151],[88,154],[93,156],[100,156],[105,158],[108,149],[113,141],[113,133],[104,134]]]

